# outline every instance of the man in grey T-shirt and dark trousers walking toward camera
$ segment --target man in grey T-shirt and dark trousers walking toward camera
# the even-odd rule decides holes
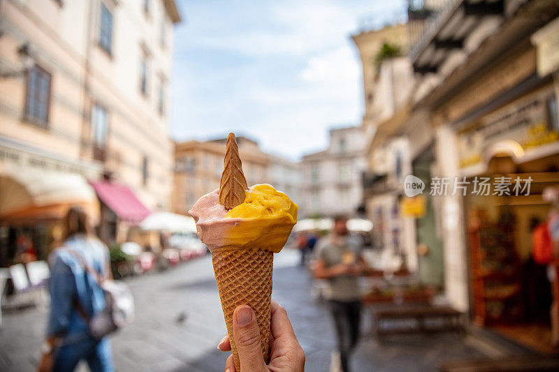
[[[331,308],[337,335],[333,370],[339,365],[342,371],[349,371],[349,355],[359,338],[361,298],[357,276],[366,267],[361,249],[358,237],[349,235],[344,216],[334,218],[333,231],[317,245],[313,274],[317,279],[326,279],[324,297]]]

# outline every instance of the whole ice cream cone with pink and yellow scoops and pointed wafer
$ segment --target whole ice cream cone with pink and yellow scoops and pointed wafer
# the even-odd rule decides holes
[[[200,239],[212,251],[235,368],[240,361],[233,337],[233,312],[247,305],[256,314],[262,356],[268,362],[273,255],[285,245],[297,222],[298,207],[270,185],[247,189],[235,135],[226,142],[219,189],[203,195],[189,213]]]

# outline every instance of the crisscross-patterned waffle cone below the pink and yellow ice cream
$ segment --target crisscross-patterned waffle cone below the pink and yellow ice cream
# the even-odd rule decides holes
[[[273,260],[273,252],[259,248],[220,249],[212,252],[217,289],[222,300],[223,315],[237,371],[240,371],[240,362],[233,338],[233,311],[240,305],[250,306],[256,314],[262,356],[264,361],[268,362]]]

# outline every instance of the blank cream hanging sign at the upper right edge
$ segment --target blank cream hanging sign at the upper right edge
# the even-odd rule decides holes
[[[532,35],[537,50],[537,74],[546,76],[559,70],[559,18]]]

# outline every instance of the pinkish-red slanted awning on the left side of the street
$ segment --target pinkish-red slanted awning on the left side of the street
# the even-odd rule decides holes
[[[152,213],[136,198],[128,186],[107,181],[93,181],[90,184],[99,199],[124,221],[139,223]]]

